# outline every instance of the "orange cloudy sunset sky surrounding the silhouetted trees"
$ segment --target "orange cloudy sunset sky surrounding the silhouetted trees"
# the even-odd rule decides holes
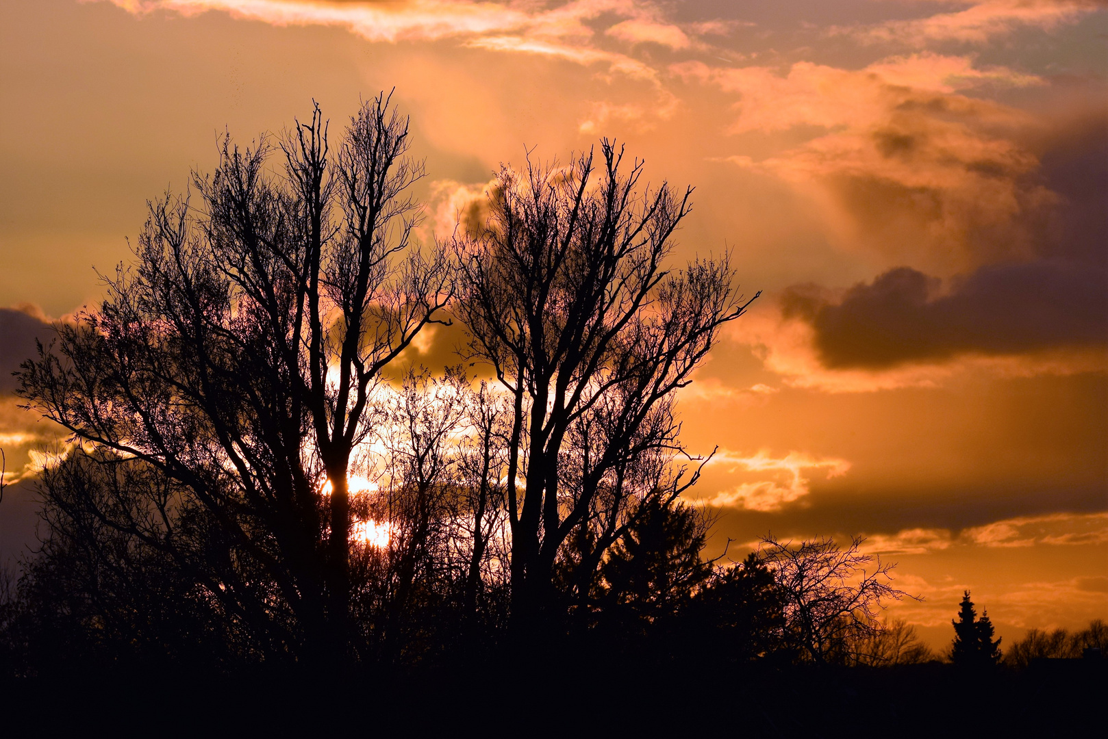
[[[762,291],[679,402],[712,553],[863,535],[936,647],[964,589],[1008,643],[1108,617],[1106,43],[1105,0],[4,0],[0,556],[58,438],[10,371],[146,202],[394,88],[427,238],[602,136],[696,187],[677,258]]]

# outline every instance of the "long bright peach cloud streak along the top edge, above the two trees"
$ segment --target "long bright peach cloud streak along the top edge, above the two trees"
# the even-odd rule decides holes
[[[103,0],[101,0],[103,1]],[[525,54],[552,62],[596,69],[604,100],[594,101],[578,122],[593,134],[609,121],[650,131],[677,111],[676,96],[665,89],[652,51],[643,43],[670,51],[704,50],[678,25],[666,20],[661,6],[645,0],[573,0],[561,3],[481,2],[472,0],[107,0],[134,14],[155,11],[184,17],[216,11],[232,18],[277,27],[345,28],[373,43],[452,41],[458,47],[497,54]],[[690,32],[694,32],[690,27]],[[636,58],[636,54],[643,59]],[[645,54],[645,55],[644,55]],[[614,78],[645,84],[634,102],[613,102]],[[422,82],[420,84],[423,84]],[[472,143],[472,142],[468,142]]]

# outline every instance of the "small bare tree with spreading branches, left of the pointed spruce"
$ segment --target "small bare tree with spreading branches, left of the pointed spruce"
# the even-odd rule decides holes
[[[881,632],[882,601],[906,595],[891,585],[895,565],[864,554],[863,541],[842,548],[830,537],[793,545],[769,535],[758,547],[783,593],[786,639],[814,663],[856,661]]]

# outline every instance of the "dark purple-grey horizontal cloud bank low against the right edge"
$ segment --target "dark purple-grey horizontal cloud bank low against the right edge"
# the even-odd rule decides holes
[[[783,310],[812,325],[823,365],[837,369],[1108,343],[1108,275],[1099,269],[1056,260],[994,265],[952,287],[936,297],[937,278],[899,267],[837,304],[791,288]]]

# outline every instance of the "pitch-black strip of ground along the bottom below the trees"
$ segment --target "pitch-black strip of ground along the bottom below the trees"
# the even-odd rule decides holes
[[[1108,660],[967,673],[611,664],[0,684],[0,733],[55,736],[1073,737],[1101,733]]]

